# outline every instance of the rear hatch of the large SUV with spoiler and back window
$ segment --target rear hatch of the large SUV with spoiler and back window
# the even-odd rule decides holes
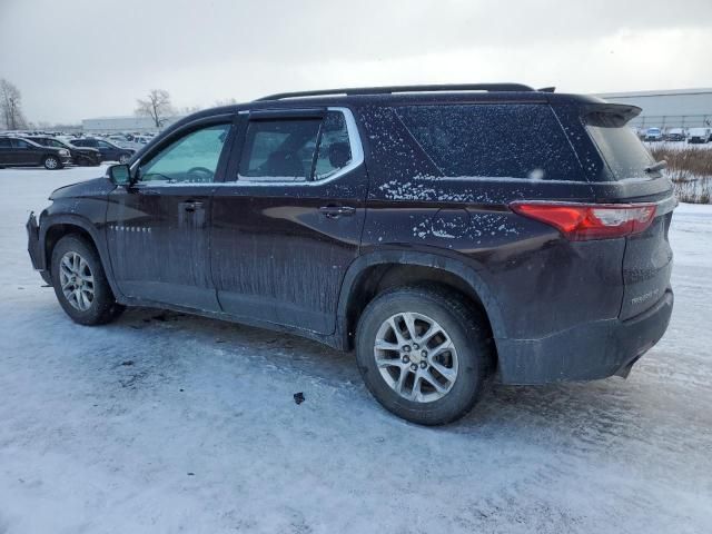
[[[621,319],[650,309],[670,288],[669,230],[678,205],[664,169],[655,167],[650,151],[627,126],[637,112],[632,106],[601,105],[585,116],[586,130],[607,167],[607,180],[596,185],[596,200],[655,206],[651,225],[625,238]]]

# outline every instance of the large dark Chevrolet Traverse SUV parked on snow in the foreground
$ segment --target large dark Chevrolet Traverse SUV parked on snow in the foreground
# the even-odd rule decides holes
[[[77,323],[152,306],[355,349],[389,411],[627,376],[673,306],[640,108],[521,85],[275,95],[172,125],[27,228]]]

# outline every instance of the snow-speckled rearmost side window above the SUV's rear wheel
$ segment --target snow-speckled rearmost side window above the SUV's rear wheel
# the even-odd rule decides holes
[[[396,112],[443,176],[583,179],[548,106],[407,106]]]

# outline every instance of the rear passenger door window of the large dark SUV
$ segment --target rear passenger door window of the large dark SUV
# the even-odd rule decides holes
[[[310,181],[333,176],[352,161],[344,113],[324,119],[260,119],[247,127],[238,179]]]

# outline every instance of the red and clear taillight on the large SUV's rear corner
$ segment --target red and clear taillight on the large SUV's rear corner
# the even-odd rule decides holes
[[[655,217],[654,204],[516,201],[513,211],[558,229],[572,241],[640,234]]]

